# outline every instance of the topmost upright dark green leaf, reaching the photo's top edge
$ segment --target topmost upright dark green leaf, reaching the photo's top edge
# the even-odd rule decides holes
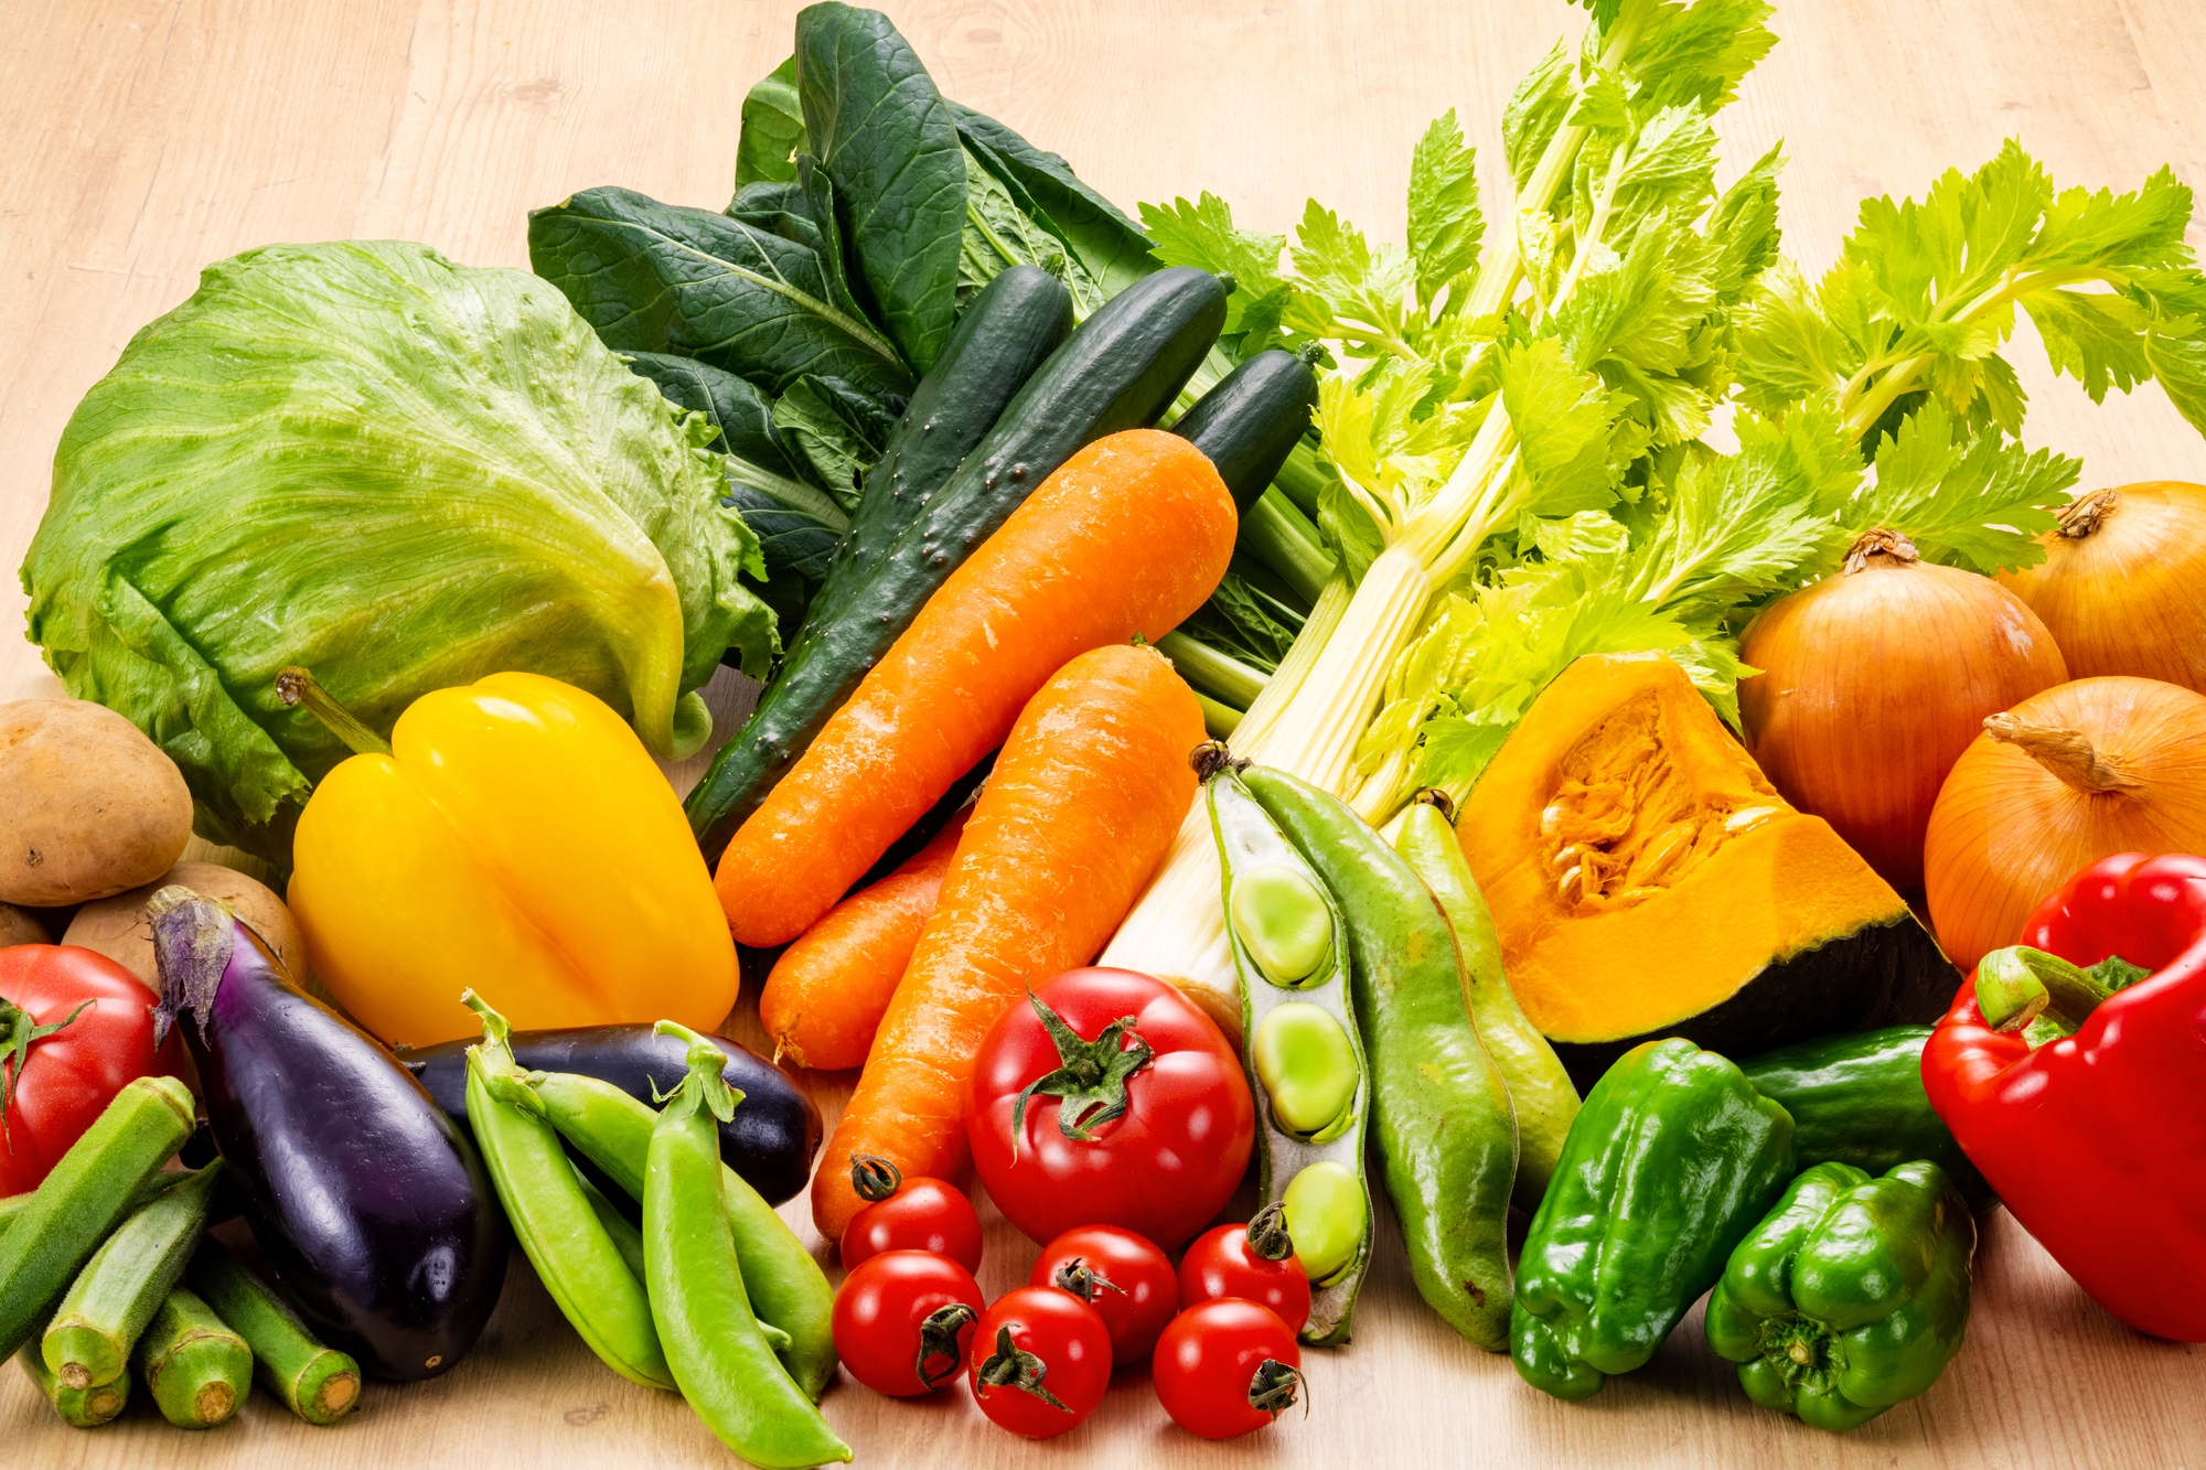
[[[847,4],[799,11],[796,97],[871,316],[924,373],[957,322],[966,166],[949,104],[887,15]]]

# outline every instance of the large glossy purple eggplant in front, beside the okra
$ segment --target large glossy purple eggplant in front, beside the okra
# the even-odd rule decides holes
[[[146,914],[154,1024],[192,1022],[207,1128],[276,1287],[377,1377],[448,1371],[499,1304],[512,1243],[472,1139],[227,903],[170,885]]]

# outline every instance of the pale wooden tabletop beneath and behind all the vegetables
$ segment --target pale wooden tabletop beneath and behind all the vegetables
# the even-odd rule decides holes
[[[790,49],[790,0],[13,0],[0,51],[0,561],[46,499],[77,397],[199,269],[269,241],[404,236],[525,265],[525,212],[596,185],[717,207],[743,88]],[[1557,0],[904,0],[944,93],[1059,150],[1123,205],[1213,190],[1286,230],[1308,194],[1401,238],[1410,146],[1456,108],[1498,159],[1516,77],[1584,13]],[[2173,163],[2206,183],[2197,0],[1787,0],[1785,38],[1723,117],[1730,174],[1787,141],[1787,245],[1824,267],[1864,194],[1921,194],[2003,137],[2060,183],[2133,188]],[[1727,177],[1730,177],[1727,174]],[[1496,168],[1485,170],[1489,196]],[[2193,230],[2193,243],[2202,232]],[[2027,324],[2023,327],[2027,331]],[[2157,388],[2093,408],[2016,353],[2030,441],[2085,455],[2085,486],[2206,479],[2206,446]],[[22,596],[0,589],[0,625]],[[57,693],[0,645],[0,697]],[[728,695],[728,689],[715,693]],[[735,709],[721,700],[721,724]],[[697,764],[675,770],[695,779]],[[730,1033],[759,1037],[754,987]],[[829,1110],[847,1075],[812,1079]],[[2197,1106],[2171,1099],[2171,1106]],[[805,1229],[803,1201],[785,1212]],[[982,1285],[1032,1245],[988,1214]],[[2206,1349],[2149,1342],[2093,1307],[2005,1214],[1979,1251],[1970,1340],[1943,1382],[1849,1437],[1763,1413],[1694,1313],[1588,1404],[1546,1399],[1418,1302],[1381,1234],[1357,1340],[1313,1353],[1310,1413],[1207,1446],[1121,1375],[1079,1432],[1028,1446],[962,1395],[891,1404],[843,1386],[827,1417],[860,1461],[1282,1466],[2202,1466]],[[415,1388],[371,1386],[335,1430],[254,1395],[185,1435],[132,1408],[62,1428],[0,1373],[11,1466],[724,1466],[679,1399],[604,1371],[516,1256],[474,1355]]]

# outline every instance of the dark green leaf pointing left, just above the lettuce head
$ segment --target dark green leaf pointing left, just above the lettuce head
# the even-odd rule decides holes
[[[633,190],[585,190],[529,214],[529,265],[622,353],[675,353],[770,393],[812,373],[911,393],[911,371],[814,249]]]

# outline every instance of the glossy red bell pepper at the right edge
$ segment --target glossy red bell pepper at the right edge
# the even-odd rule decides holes
[[[2151,973],[2111,995],[2093,987],[2087,1013],[2067,1018],[2074,1035],[2041,1040],[1985,1024],[1977,978],[2014,962],[1985,956],[1924,1046],[1930,1106],[2100,1307],[2142,1333],[2206,1342],[2206,859],[2093,863],[2038,905],[2023,945]]]

